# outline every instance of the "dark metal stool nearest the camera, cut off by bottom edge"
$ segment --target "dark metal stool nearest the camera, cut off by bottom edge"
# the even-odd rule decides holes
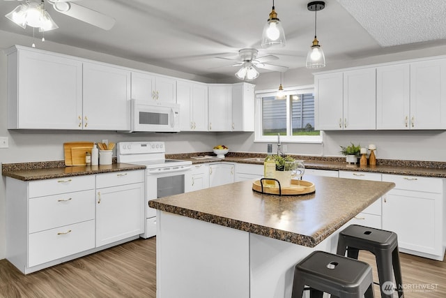
[[[332,297],[374,298],[370,265],[325,251],[314,251],[295,265],[291,298],[302,298],[305,285],[310,297],[322,298],[327,292]]]

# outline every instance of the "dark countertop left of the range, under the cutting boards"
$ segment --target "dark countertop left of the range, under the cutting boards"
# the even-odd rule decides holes
[[[77,165],[73,167],[40,167],[36,168],[31,163],[30,168],[25,170],[14,170],[23,168],[24,164],[3,164],[2,175],[22,181],[41,179],[52,179],[61,177],[82,176],[89,174],[100,174],[107,172],[121,172],[130,170],[145,170],[145,165],[130,165],[128,163],[112,163],[112,165]],[[22,167],[20,167],[22,166]]]

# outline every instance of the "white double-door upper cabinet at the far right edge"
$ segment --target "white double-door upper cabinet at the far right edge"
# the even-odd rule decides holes
[[[377,68],[378,129],[446,128],[446,60]]]

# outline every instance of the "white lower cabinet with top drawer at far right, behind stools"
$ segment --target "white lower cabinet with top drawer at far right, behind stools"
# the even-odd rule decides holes
[[[383,229],[398,234],[401,251],[443,260],[443,178],[383,174],[383,181],[396,184],[383,197]]]

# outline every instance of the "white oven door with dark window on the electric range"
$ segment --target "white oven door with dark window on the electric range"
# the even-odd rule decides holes
[[[146,218],[156,216],[156,210],[148,207],[149,200],[185,193],[185,174],[192,165],[180,165],[169,170],[146,170]]]

